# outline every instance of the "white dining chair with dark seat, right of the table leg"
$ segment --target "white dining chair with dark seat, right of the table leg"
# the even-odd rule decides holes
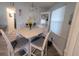
[[[37,40],[31,41],[31,44],[30,44],[31,55],[36,56],[36,54],[34,54],[36,49],[41,51],[41,56],[44,55],[44,52],[46,49],[45,53],[47,55],[47,41],[48,41],[49,34],[50,32],[48,32],[48,34],[45,37],[41,36]]]

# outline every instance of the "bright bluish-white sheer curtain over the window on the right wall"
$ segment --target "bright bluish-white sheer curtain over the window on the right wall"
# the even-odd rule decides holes
[[[62,33],[65,8],[66,6],[63,6],[61,8],[52,11],[50,30],[57,35],[61,35]]]

